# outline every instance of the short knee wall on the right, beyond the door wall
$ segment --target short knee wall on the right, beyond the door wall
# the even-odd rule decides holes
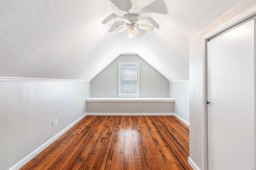
[[[174,113],[189,125],[189,81],[169,82],[169,97],[175,99]]]

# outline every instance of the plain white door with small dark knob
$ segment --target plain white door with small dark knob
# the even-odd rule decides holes
[[[254,22],[207,43],[209,170],[255,168]]]

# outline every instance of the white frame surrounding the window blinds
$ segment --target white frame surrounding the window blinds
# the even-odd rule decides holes
[[[136,94],[122,94],[121,93],[121,66],[122,65],[136,65],[137,66],[137,91]],[[118,62],[118,97],[140,97],[140,61],[119,61]]]

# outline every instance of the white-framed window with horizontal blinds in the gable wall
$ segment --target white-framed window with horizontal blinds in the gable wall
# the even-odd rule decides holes
[[[118,97],[140,97],[139,66],[140,62],[118,62]]]

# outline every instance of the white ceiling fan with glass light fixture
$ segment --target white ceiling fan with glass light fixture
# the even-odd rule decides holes
[[[155,28],[152,25],[148,25],[152,24],[148,18],[139,20],[138,14],[126,14],[122,18],[120,17],[120,19],[122,20],[122,24],[113,24],[108,26],[119,26],[116,28],[115,33],[119,33],[128,29],[128,38],[133,38],[134,35],[140,34],[139,30],[152,31]]]

